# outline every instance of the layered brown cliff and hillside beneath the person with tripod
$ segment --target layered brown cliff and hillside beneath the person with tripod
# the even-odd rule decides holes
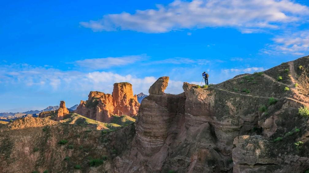
[[[165,94],[168,79],[159,78],[142,101],[133,147],[118,158],[117,170],[306,171],[309,121],[298,108],[308,105],[308,72],[303,57],[207,89],[184,83],[178,95]]]

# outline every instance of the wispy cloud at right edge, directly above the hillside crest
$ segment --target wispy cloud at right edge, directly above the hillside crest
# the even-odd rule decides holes
[[[308,55],[309,30],[279,35],[262,51],[266,54]]]

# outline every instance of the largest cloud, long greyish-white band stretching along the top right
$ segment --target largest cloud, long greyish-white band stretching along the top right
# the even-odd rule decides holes
[[[102,19],[80,24],[93,31],[164,33],[187,28],[234,27],[252,33],[299,22],[308,14],[307,6],[291,0],[175,0],[167,6],[157,5],[157,9],[105,14]]]

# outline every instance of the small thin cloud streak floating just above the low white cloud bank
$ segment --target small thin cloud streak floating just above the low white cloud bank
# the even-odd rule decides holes
[[[94,58],[94,59],[78,60],[78,61],[75,61],[74,64],[80,67],[99,70],[99,69],[111,68],[115,66],[133,64],[137,61],[145,60],[146,58],[147,58],[146,55]]]

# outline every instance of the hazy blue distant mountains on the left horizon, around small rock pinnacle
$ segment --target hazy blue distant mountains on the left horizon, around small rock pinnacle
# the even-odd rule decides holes
[[[72,107],[69,108],[70,111],[73,111],[77,108],[78,105],[74,105]],[[47,108],[43,109],[43,110],[29,110],[29,111],[26,111],[26,112],[16,112],[16,113],[13,113],[13,112],[3,112],[3,113],[0,113],[0,117],[22,117],[22,116],[25,116],[25,115],[32,115],[32,114],[39,114],[41,112],[45,112],[45,111],[53,111],[53,110],[58,110],[59,109],[59,106],[48,106]]]

